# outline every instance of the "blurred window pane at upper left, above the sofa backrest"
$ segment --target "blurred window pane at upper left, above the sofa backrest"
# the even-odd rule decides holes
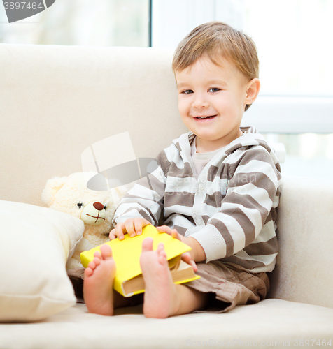
[[[56,0],[8,24],[0,4],[0,43],[148,47],[149,9],[149,0]]]

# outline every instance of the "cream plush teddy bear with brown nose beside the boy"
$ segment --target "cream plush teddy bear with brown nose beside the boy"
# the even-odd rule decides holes
[[[85,223],[83,238],[66,264],[67,274],[81,279],[85,268],[81,265],[80,253],[110,241],[108,235],[114,228],[115,209],[129,189],[120,183],[108,190],[92,190],[87,187],[92,178],[96,178],[93,172],[53,177],[48,179],[42,192],[42,200],[50,209],[70,214]]]

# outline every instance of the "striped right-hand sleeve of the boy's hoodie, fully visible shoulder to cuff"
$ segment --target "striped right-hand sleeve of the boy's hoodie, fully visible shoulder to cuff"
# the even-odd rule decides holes
[[[245,151],[229,171],[233,173],[220,210],[191,235],[204,248],[206,262],[232,256],[253,243],[274,206],[278,176],[265,149]]]

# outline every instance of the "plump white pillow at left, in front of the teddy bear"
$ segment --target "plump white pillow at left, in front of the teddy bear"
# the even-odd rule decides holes
[[[0,322],[41,320],[76,304],[66,261],[83,237],[83,221],[0,200],[0,227]]]

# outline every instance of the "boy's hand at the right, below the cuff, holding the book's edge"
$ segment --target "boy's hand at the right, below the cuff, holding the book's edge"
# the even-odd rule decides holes
[[[192,265],[194,272],[197,272],[198,267],[195,262],[202,262],[203,260],[206,260],[204,248],[201,247],[199,242],[197,242],[197,240],[193,239],[192,237],[183,237],[183,235],[180,235],[176,229],[171,229],[167,225],[162,225],[161,227],[157,227],[156,229],[159,232],[166,232],[166,234],[171,235],[171,237],[180,240],[181,242],[187,244],[192,248],[191,251],[183,253],[182,259],[184,262],[187,262],[187,264]]]

